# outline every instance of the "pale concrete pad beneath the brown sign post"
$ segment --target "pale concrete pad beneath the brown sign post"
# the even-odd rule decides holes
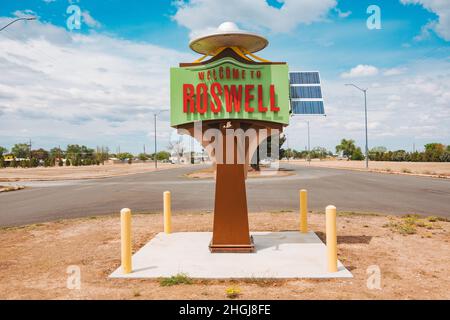
[[[210,253],[211,232],[159,233],[133,256],[133,272],[111,278],[352,278],[338,262],[328,273],[326,246],[314,232],[252,232],[255,253]]]

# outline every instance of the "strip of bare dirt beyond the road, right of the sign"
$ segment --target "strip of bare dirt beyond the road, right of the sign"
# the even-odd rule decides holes
[[[346,161],[346,160],[320,161],[318,159],[314,159],[311,161],[311,164],[309,164],[305,160],[290,160],[289,163],[303,166],[311,165],[315,167],[366,170],[365,161]],[[369,171],[450,178],[450,162],[369,161]]]

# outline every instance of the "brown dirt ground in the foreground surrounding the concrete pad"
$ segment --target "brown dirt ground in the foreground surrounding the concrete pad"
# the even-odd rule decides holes
[[[251,230],[295,230],[295,212],[250,214]],[[323,239],[325,217],[310,215]],[[175,214],[177,231],[209,231],[209,213]],[[162,230],[162,216],[133,216],[133,250]],[[161,280],[108,279],[120,265],[119,216],[92,217],[0,230],[0,299],[450,299],[450,222],[341,213],[338,255],[353,279]],[[80,267],[81,289],[67,288],[67,268]],[[381,271],[368,289],[367,268]]]

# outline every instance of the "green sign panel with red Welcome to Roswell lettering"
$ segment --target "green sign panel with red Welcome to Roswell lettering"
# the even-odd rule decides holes
[[[171,125],[246,119],[289,124],[286,64],[248,65],[227,57],[201,66],[171,68]]]

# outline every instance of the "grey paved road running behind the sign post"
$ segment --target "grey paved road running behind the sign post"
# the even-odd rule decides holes
[[[450,180],[283,164],[295,175],[247,180],[250,211],[298,208],[298,190],[309,190],[310,208],[450,217]],[[174,211],[213,210],[214,181],[178,168],[98,180],[32,182],[0,194],[0,226],[23,225],[118,212],[159,212],[162,192],[172,192]]]

